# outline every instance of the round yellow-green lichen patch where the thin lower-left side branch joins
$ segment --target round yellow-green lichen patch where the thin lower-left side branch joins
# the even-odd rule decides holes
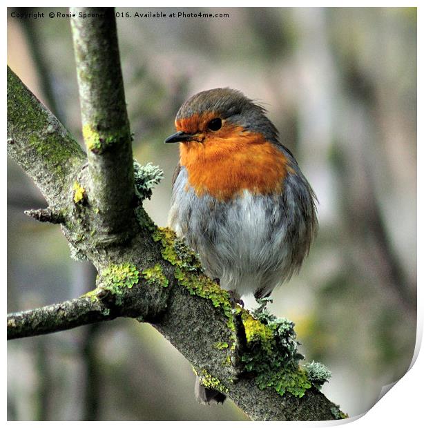
[[[139,272],[132,263],[110,264],[100,274],[99,280],[102,289],[110,291],[116,296],[116,304],[122,303],[124,289],[131,289],[138,283]]]

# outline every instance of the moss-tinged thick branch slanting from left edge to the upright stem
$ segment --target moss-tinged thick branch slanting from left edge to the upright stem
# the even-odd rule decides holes
[[[75,139],[9,67],[8,155],[56,205],[85,159]]]

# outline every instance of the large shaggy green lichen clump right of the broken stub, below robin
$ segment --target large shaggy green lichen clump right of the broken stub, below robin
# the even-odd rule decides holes
[[[265,303],[266,304],[266,303]],[[298,342],[293,322],[276,318],[262,306],[262,311],[253,311],[260,320],[242,312],[246,331],[247,352],[242,355],[244,369],[255,373],[258,388],[271,387],[281,396],[286,392],[302,397],[312,384],[298,360]]]

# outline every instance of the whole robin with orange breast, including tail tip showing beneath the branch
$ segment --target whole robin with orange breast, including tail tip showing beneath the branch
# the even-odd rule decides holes
[[[180,162],[168,225],[235,302],[258,300],[298,273],[316,237],[316,195],[267,110],[239,90],[187,99],[175,118]],[[203,404],[225,396],[196,380]]]

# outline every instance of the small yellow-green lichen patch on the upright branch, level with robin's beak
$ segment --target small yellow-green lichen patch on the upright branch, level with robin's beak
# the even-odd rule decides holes
[[[84,124],[82,127],[82,136],[86,147],[97,155],[115,144],[125,144],[131,140],[131,134],[128,126],[119,130],[104,129],[102,131],[93,128],[91,124]]]

